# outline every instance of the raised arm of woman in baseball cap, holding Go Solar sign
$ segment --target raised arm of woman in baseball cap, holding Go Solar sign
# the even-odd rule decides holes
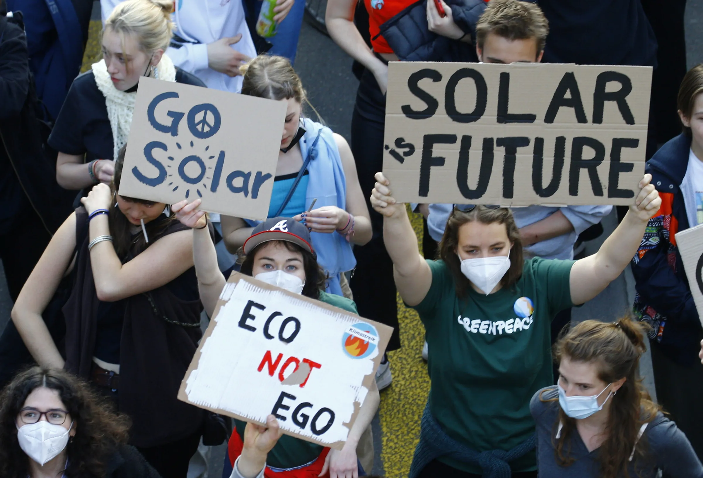
[[[193,227],[193,263],[195,275],[198,276],[200,302],[205,307],[207,317],[212,317],[225,280],[217,266],[217,251],[207,228],[205,212],[198,211],[201,202],[195,199],[188,204],[184,200],[171,206],[171,210],[183,225]]]

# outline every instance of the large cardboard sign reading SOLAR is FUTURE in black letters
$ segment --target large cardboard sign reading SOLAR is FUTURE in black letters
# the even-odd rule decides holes
[[[391,62],[383,173],[403,202],[631,204],[651,67]]]

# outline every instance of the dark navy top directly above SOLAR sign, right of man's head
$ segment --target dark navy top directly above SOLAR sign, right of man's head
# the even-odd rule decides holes
[[[549,20],[543,62],[657,66],[641,0],[530,0]]]

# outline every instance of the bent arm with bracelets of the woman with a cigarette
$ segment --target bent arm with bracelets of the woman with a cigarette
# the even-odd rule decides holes
[[[110,187],[98,184],[81,199],[88,213],[110,208]],[[120,214],[113,211],[113,214]],[[108,216],[97,215],[90,221],[89,238],[110,235]],[[179,231],[157,239],[145,251],[122,264],[110,241],[98,242],[90,251],[91,269],[98,299],[105,302],[136,296],[164,286],[193,267],[193,234]]]

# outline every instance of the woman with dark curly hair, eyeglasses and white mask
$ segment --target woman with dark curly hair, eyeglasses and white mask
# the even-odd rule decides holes
[[[160,478],[128,430],[86,383],[34,366],[0,394],[0,478]]]

